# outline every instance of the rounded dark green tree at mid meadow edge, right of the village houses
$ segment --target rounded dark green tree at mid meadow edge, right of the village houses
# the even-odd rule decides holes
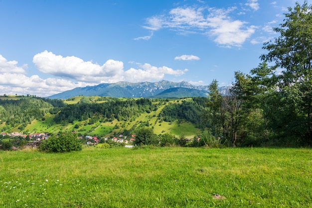
[[[151,144],[156,144],[157,143],[157,138],[156,134],[153,132],[153,129],[151,128],[140,128],[137,131],[136,134],[136,140],[134,141],[134,144],[137,146],[141,145],[151,145]]]

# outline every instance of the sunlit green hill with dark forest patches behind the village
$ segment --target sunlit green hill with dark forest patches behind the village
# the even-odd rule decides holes
[[[66,101],[45,98],[0,100],[0,131],[82,135],[131,135],[141,127],[156,134],[172,133],[192,138],[204,129],[200,119],[206,98],[130,99],[73,97]],[[196,118],[196,119],[194,119]]]

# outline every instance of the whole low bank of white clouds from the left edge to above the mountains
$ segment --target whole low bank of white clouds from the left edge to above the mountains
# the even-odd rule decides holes
[[[139,69],[124,70],[121,61],[108,60],[99,65],[74,56],[63,57],[48,51],[36,54],[33,63],[40,72],[53,75],[54,78],[27,76],[24,70],[26,66],[17,66],[17,61],[7,61],[0,55],[0,92],[7,95],[30,94],[46,97],[100,83],[158,81],[165,75],[180,76],[187,71],[150,64],[140,65]]]

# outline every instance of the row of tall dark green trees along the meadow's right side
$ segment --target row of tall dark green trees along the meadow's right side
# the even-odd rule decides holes
[[[312,145],[312,6],[296,3],[285,16],[257,68],[235,72],[225,96],[216,80],[209,86],[204,117],[233,146]]]

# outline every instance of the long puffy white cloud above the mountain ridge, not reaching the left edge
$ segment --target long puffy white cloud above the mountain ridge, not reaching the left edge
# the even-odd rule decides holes
[[[52,52],[44,51],[33,57],[33,63],[39,71],[54,76],[74,79],[86,83],[115,83],[119,81],[149,81],[163,78],[165,74],[182,75],[184,71],[168,67],[142,65],[143,69],[131,68],[124,71],[121,61],[108,60],[102,66],[80,58],[62,57]]]

